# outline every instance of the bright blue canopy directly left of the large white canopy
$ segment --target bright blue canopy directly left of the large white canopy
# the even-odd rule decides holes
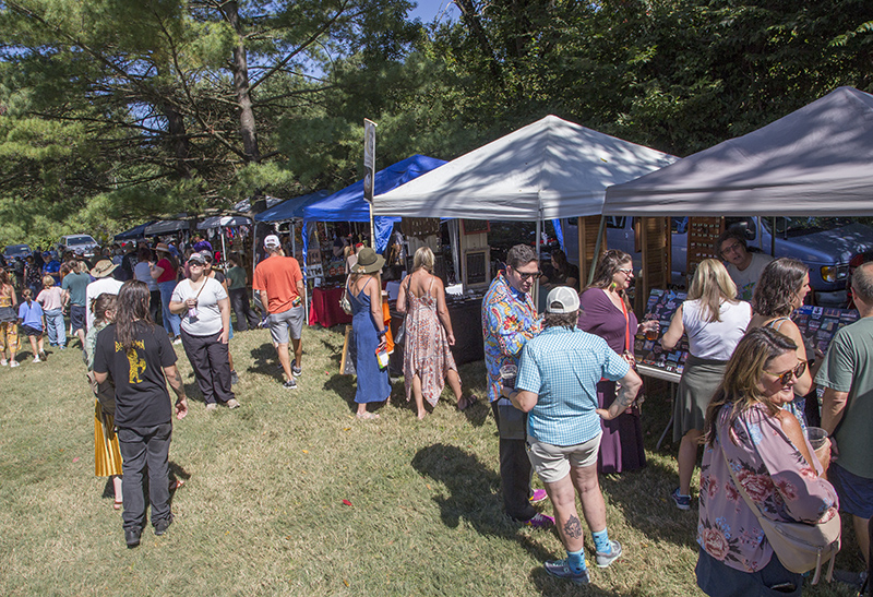
[[[375,174],[373,194],[382,194],[405,184],[419,176],[445,164],[442,159],[426,155],[414,155]],[[382,252],[388,244],[394,223],[399,217],[376,216],[375,250]],[[370,206],[363,199],[363,180],[359,180],[334,194],[303,207],[303,222],[370,222]],[[307,250],[303,237],[303,251]]]

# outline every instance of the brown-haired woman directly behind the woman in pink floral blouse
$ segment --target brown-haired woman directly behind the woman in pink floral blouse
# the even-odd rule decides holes
[[[772,261],[764,268],[755,285],[755,291],[752,295],[754,314],[749,323],[749,330],[769,327],[791,338],[798,345],[800,360],[805,365],[809,365],[813,357],[810,354],[812,348],[810,351],[806,350],[800,330],[791,321],[791,313],[803,305],[803,299],[809,291],[810,271],[803,263],[791,258],[779,258]],[[821,357],[823,358],[824,355]],[[794,384],[794,399],[786,404],[786,408],[797,417],[804,432],[806,429],[804,396],[813,389],[812,380],[822,365],[822,358],[818,359],[815,371],[812,371],[810,367],[805,368]],[[814,405],[810,406],[815,406],[814,411],[818,413],[817,399]]]

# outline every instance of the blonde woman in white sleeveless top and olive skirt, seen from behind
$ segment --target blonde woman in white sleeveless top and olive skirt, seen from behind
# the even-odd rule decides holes
[[[683,334],[689,337],[689,357],[673,402],[679,487],[670,498],[679,510],[691,509],[691,476],[697,464],[706,407],[751,319],[752,307],[737,300],[737,285],[721,262],[705,259],[694,272],[687,299],[679,306],[661,338],[661,346],[670,351]]]

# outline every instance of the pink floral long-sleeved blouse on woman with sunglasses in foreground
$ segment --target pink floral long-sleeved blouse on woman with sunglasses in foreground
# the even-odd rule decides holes
[[[827,522],[837,513],[837,494],[817,476],[822,474],[818,459],[813,457],[813,470],[764,405],[741,413],[728,431],[730,408],[725,405],[719,414],[715,447],[704,447],[697,542],[725,565],[757,572],[770,561],[773,548],[733,483],[725,455],[737,480],[767,518]],[[806,449],[813,454],[809,441]]]

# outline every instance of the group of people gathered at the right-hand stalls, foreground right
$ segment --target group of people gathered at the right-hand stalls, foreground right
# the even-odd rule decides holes
[[[873,476],[861,427],[873,422],[868,365],[873,335],[865,321],[873,315],[868,302],[873,300],[873,264],[859,267],[852,279],[852,290],[861,297],[861,321],[840,330],[825,356],[804,347],[790,319],[810,289],[802,263],[750,253],[733,231],[717,241],[716,251],[727,267],[719,260],[698,264],[687,299],[661,336],[667,350],[683,335],[690,345],[674,401],[679,487],[670,498],[678,509],[690,510],[697,494],[695,572],[707,595],[800,595],[801,572],[814,569],[817,581],[828,559],[833,571],[838,511],[852,516],[858,546],[870,565]],[[566,558],[547,561],[543,568],[585,584],[590,575],[576,493],[595,561],[608,566],[622,546],[606,528],[598,473],[645,466],[633,337],[659,332],[659,324],[639,323],[630,309],[633,262],[622,251],[600,258],[594,282],[581,294],[552,285],[541,318],[530,297],[537,277],[550,278],[540,271],[536,253],[514,247],[482,305],[504,508],[510,517],[536,528],[555,524]],[[813,382],[824,387],[821,418]],[[820,433],[829,438],[814,450],[809,433],[820,420]],[[693,488],[701,446],[699,485]],[[531,505],[534,470],[554,518]],[[797,563],[809,551],[800,542],[787,548],[779,533],[770,530],[773,525],[798,524],[827,526],[833,533],[832,521],[837,521],[837,536],[821,533],[822,550],[811,564]]]

